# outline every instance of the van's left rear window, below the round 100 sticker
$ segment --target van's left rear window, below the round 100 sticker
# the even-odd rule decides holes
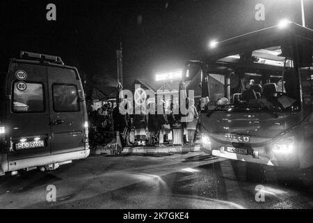
[[[42,84],[15,82],[12,101],[13,112],[45,112]]]

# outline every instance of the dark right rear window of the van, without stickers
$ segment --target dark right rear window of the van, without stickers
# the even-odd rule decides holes
[[[54,112],[79,112],[77,86],[52,84]]]

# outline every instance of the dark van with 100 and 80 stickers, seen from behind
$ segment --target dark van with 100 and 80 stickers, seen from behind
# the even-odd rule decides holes
[[[21,52],[0,75],[0,175],[88,157],[81,78],[58,56]]]

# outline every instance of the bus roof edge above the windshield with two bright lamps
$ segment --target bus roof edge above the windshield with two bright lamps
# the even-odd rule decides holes
[[[226,54],[232,54],[232,52],[238,52],[239,50],[245,49],[249,51],[256,49],[258,46],[262,47],[264,44],[273,40],[282,40],[283,38],[293,35],[313,41],[312,29],[291,22],[284,28],[280,26],[272,26],[220,41],[216,43],[215,47],[209,48],[209,50],[204,53],[202,61],[215,61]]]

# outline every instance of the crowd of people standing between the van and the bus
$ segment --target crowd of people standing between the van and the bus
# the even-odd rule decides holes
[[[90,105],[88,111],[90,141],[95,139],[96,132],[103,132],[104,138],[114,139],[118,134],[122,147],[162,146],[164,144],[193,145],[197,135],[199,116],[194,100],[186,100],[188,113],[184,117],[190,120],[188,122],[182,121],[182,115],[177,114],[178,108],[173,102],[170,102],[168,107],[163,100],[159,103],[161,103],[163,112],[157,112],[155,102],[150,102],[147,104],[147,109],[154,108],[155,112],[125,115],[120,113],[119,104],[113,107],[109,102],[98,109]]]

